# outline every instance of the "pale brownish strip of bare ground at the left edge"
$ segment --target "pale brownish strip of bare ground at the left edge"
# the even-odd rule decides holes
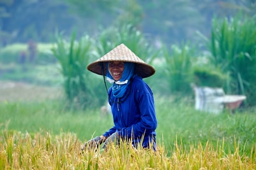
[[[42,101],[63,96],[61,87],[44,87],[28,83],[0,81],[0,102]]]

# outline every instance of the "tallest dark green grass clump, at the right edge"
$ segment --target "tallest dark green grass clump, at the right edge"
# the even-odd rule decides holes
[[[211,53],[214,64],[230,74],[226,91],[244,94],[246,103],[255,105],[256,20],[248,17],[214,19],[211,32]]]

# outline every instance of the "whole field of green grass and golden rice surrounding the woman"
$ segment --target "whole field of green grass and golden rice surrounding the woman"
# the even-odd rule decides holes
[[[195,111],[188,99],[155,96],[159,150],[81,145],[113,125],[100,108],[65,110],[61,99],[0,103],[0,169],[255,169],[255,113]]]

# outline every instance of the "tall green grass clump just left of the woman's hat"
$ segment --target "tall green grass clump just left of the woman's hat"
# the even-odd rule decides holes
[[[86,108],[104,103],[99,101],[102,98],[96,97],[95,89],[100,87],[99,79],[86,71],[92,55],[91,45],[89,36],[83,36],[77,41],[76,32],[73,32],[70,41],[58,35],[56,47],[52,48],[54,57],[60,62],[65,94],[72,108]]]

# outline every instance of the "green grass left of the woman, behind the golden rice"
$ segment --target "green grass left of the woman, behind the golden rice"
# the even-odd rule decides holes
[[[93,133],[100,135],[113,125],[111,117],[102,118],[100,110],[65,111],[63,103],[1,103],[1,128],[7,125],[10,131],[46,131],[54,135],[72,132],[85,140],[92,138]]]

